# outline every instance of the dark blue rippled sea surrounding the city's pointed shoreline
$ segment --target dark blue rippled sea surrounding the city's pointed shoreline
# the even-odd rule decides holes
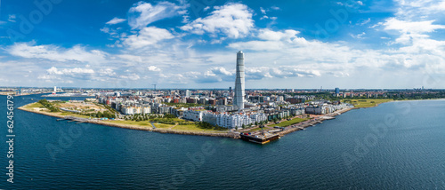
[[[0,110],[0,189],[445,189],[445,100],[355,109],[263,146],[15,109],[13,184],[5,96]]]

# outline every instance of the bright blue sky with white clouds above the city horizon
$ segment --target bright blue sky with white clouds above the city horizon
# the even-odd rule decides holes
[[[445,88],[445,1],[1,1],[0,86]]]

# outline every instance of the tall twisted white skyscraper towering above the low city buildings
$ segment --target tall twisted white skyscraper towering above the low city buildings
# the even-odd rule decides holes
[[[244,53],[238,51],[237,53],[237,79],[235,81],[235,98],[233,104],[239,107],[239,110],[244,109]]]

